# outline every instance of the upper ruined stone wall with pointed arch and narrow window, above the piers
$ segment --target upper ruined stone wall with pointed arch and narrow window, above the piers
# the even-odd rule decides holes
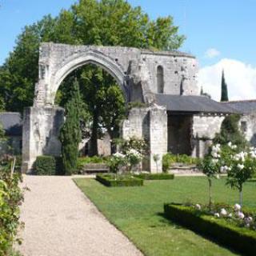
[[[126,96],[126,102],[154,102],[154,93],[158,93],[158,66],[162,66],[163,70],[164,94],[199,94],[196,81],[198,64],[190,54],[118,46],[42,43],[34,106],[54,105],[62,80],[88,63],[101,66],[113,75]]]

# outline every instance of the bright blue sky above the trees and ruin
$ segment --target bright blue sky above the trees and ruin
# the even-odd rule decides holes
[[[59,10],[68,8],[74,2],[76,1],[0,0],[0,65],[13,49],[15,38],[21,33],[22,27],[38,21],[45,14],[57,15]],[[214,75],[219,69],[229,70],[230,62],[225,60],[235,60],[237,69],[238,64],[242,63],[246,72],[248,69],[252,70],[249,80],[253,82],[251,87],[256,88],[256,0],[128,2],[133,6],[142,6],[142,10],[150,14],[151,18],[173,16],[174,24],[180,27],[180,33],[185,34],[187,38],[181,50],[194,54],[202,70],[211,66],[212,70],[208,69],[208,72]],[[227,80],[231,76],[230,72],[235,71],[228,71]],[[212,74],[213,72],[215,73]],[[199,77],[201,74],[199,73]],[[209,80],[210,75],[207,73],[204,76],[209,76]],[[200,78],[204,84],[209,83],[206,78]]]

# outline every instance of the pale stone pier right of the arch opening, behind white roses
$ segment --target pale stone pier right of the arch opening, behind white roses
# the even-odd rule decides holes
[[[133,108],[122,125],[122,138],[144,138],[149,142],[150,154],[142,162],[142,169],[162,173],[162,155],[167,153],[167,114],[160,106]],[[158,155],[158,167],[154,162]]]

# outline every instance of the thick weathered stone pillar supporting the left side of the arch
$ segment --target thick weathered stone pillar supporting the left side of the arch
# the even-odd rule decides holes
[[[24,110],[22,134],[22,172],[32,170],[39,155],[59,156],[58,135],[64,122],[64,109],[57,106],[28,107]]]

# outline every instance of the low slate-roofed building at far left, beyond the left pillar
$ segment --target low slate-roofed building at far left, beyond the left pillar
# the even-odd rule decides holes
[[[22,154],[22,117],[19,113],[0,113],[0,125],[5,131],[6,140],[0,142],[1,154]]]

